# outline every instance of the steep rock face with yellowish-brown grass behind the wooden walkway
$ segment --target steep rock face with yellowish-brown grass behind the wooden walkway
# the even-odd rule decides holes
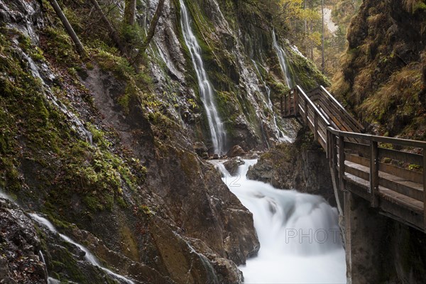
[[[349,48],[332,91],[378,134],[424,139],[419,94],[426,53],[424,1],[364,1],[351,21]]]

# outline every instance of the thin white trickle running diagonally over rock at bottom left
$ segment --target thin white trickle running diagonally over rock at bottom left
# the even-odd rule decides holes
[[[35,221],[37,221],[38,223],[43,224],[44,226],[46,226],[50,231],[53,231],[53,233],[59,234],[58,230],[56,230],[55,226],[53,226],[53,224],[50,223],[48,219],[45,219],[45,218],[43,218],[40,215],[35,214],[35,213],[31,213],[30,216]],[[89,263],[91,263],[92,266],[97,266],[97,267],[101,268],[103,271],[105,271],[106,273],[108,273],[109,275],[111,275],[112,278],[114,278],[116,280],[121,280],[123,283],[135,284],[132,280],[124,277],[123,275],[119,275],[117,273],[114,273],[113,271],[110,271],[108,268],[104,268],[104,266],[102,266],[99,263],[99,261],[97,261],[96,256],[94,256],[85,246],[82,246],[81,244],[78,244],[77,242],[75,242],[72,239],[70,239],[70,237],[65,236],[63,234],[59,234],[59,236],[61,237],[61,239],[63,239],[67,243],[73,244],[73,245],[77,246],[79,249],[81,249],[82,251],[84,251],[84,258],[86,258],[86,261],[88,261]],[[52,280],[55,280],[55,279],[52,279]]]

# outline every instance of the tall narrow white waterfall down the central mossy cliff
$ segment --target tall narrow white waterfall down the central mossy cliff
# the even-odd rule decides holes
[[[190,26],[190,16],[182,0],[180,0],[180,25],[187,48],[190,50],[192,64],[197,75],[198,85],[200,87],[200,98],[206,111],[209,123],[209,131],[212,136],[212,143],[215,154],[224,154],[226,146],[226,133],[224,123],[219,117],[216,102],[214,99],[214,90],[209,82],[207,72],[204,70],[204,63],[201,58],[201,48],[197,43],[197,38],[192,33]]]

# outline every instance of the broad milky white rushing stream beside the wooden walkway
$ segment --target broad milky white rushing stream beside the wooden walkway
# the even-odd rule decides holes
[[[346,283],[345,254],[337,209],[322,197],[247,180],[256,160],[244,160],[231,177],[220,162],[224,182],[253,213],[261,243],[256,258],[240,266],[246,283]]]

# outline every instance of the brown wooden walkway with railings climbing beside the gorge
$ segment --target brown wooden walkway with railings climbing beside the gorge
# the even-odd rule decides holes
[[[339,212],[339,192],[349,191],[379,213],[426,231],[425,141],[363,133],[363,126],[322,86],[306,93],[299,86],[290,89],[276,107],[283,118],[309,126],[326,151]]]

